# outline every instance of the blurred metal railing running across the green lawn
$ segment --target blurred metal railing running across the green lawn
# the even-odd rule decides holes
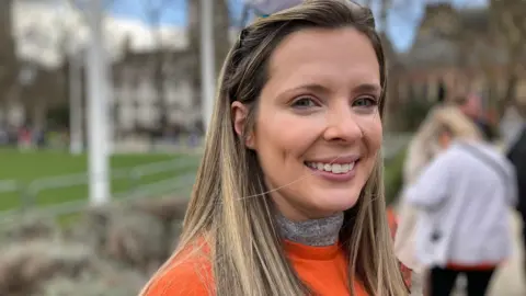
[[[111,182],[122,182],[121,189],[112,190],[112,202],[129,201],[141,197],[156,197],[178,192],[190,194],[195,180],[195,158],[184,158],[112,170]],[[18,207],[0,210],[0,223],[11,223],[21,215],[59,216],[82,212],[89,208],[87,196],[70,196],[71,201],[41,205],[41,197],[47,191],[87,186],[87,173],[68,174],[34,180],[27,184],[7,180],[0,181],[0,194],[18,198]],[[126,185],[123,185],[126,184]]]

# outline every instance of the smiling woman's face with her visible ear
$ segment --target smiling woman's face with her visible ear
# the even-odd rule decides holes
[[[247,145],[286,217],[356,204],[381,146],[379,72],[370,41],[351,27],[302,30],[273,53]],[[232,105],[238,133],[243,109]]]

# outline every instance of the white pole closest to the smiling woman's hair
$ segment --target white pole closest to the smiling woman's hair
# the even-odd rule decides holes
[[[211,119],[215,96],[214,0],[201,0],[201,75],[202,107],[205,130]]]

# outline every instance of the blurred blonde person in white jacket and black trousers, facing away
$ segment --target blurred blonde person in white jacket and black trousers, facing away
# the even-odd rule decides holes
[[[459,274],[468,296],[483,296],[511,255],[515,171],[461,113],[444,109],[436,116],[438,153],[404,192],[419,209],[415,254],[428,269],[430,296],[451,295]]]

